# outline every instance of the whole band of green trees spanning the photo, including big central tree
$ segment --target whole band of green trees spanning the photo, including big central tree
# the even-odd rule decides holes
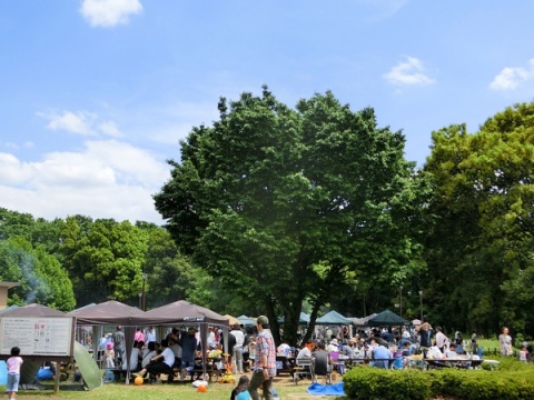
[[[145,286],[147,309],[283,314],[289,341],[303,307],[314,321],[325,307],[396,304],[409,319],[423,306],[448,330],[533,333],[534,103],[476,133],[434,132],[422,169],[402,132],[329,92],[290,109],[264,88],[219,112],[170,161],[155,196],[166,228],[0,209],[0,279],[21,282],[11,301],[142,306]]]

